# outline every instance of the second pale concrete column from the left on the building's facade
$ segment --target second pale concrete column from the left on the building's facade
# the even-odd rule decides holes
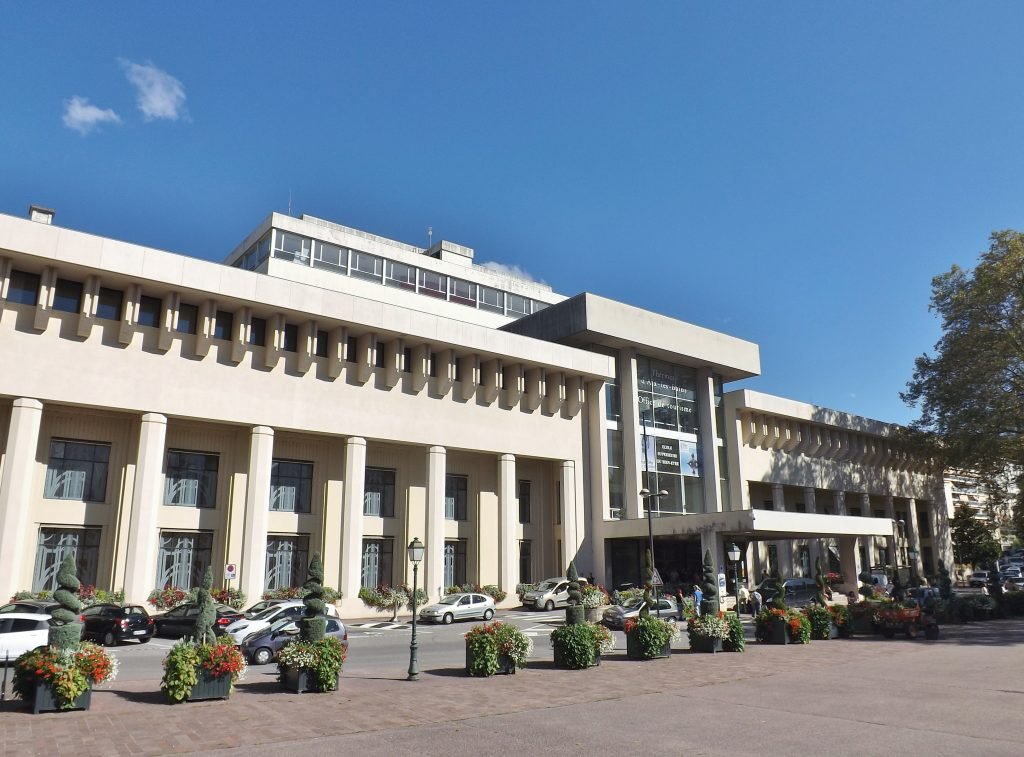
[[[125,558],[125,599],[144,602],[157,588],[158,514],[164,501],[164,452],[167,416],[146,413],[138,433],[135,486],[131,498]]]

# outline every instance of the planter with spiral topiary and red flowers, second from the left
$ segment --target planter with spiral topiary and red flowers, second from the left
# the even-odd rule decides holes
[[[239,647],[219,641],[213,633],[212,585],[213,570],[207,567],[197,594],[200,609],[193,637],[178,641],[164,658],[160,687],[172,703],[227,699],[245,675],[246,661]]]

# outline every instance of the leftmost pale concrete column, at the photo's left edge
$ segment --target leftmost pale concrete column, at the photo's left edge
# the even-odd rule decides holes
[[[3,477],[0,478],[0,597],[22,589],[31,589],[32,574],[25,551],[35,543],[29,533],[32,482],[39,449],[39,427],[43,404],[38,399],[18,398],[10,412]]]

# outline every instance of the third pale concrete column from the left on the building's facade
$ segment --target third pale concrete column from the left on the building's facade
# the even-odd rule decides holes
[[[249,436],[246,517],[239,585],[248,597],[263,595],[266,584],[266,528],[270,518],[270,468],[273,429],[254,426]]]

